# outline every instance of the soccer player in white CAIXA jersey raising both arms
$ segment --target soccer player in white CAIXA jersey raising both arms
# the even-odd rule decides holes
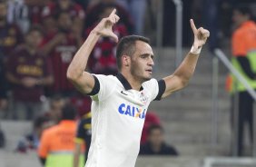
[[[153,49],[147,38],[130,35],[117,45],[119,74],[103,75],[84,72],[89,54],[100,37],[110,36],[117,42],[112,27],[119,16],[112,14],[95,26],[74,55],[68,79],[82,93],[91,95],[92,142],[85,167],[133,167],[140,149],[145,114],[153,100],[167,97],[182,89],[194,72],[202,45],[210,32],[197,29],[191,20],[194,42],[190,53],[178,69],[160,81],[152,78]]]

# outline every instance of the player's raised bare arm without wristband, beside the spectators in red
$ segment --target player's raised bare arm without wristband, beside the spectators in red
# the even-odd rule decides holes
[[[115,15],[116,10],[113,9],[111,15],[103,18],[101,22],[96,25],[94,30],[89,34],[84,44],[80,47],[67,69],[67,78],[74,84],[74,86],[82,93],[91,93],[94,88],[94,76],[84,72],[89,55],[91,54],[94,45],[101,36],[113,37],[118,42],[118,37],[113,34],[112,27],[118,22],[119,16]]]

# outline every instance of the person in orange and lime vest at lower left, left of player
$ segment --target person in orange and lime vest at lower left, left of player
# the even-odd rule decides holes
[[[43,132],[38,155],[44,166],[72,166],[76,130],[75,117],[74,106],[66,104],[62,110],[62,121]],[[81,158],[79,166],[84,166],[83,158]]]

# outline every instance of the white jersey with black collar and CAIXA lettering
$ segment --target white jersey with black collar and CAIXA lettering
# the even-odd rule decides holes
[[[93,133],[85,167],[134,167],[147,108],[161,98],[165,84],[151,79],[136,91],[122,74],[94,78],[99,90],[92,96]]]

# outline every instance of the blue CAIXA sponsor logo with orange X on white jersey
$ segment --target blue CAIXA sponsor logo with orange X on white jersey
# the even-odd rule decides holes
[[[118,112],[127,116],[132,116],[134,118],[145,119],[146,109],[137,108],[132,105],[126,105],[121,103],[118,107]]]

